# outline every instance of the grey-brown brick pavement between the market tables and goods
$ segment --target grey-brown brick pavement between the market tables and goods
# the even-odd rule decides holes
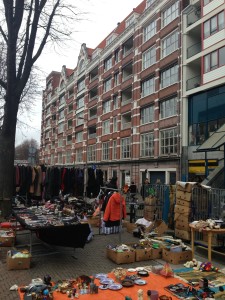
[[[7,248],[1,248],[0,252],[0,299],[17,300],[19,296],[17,292],[10,291],[9,288],[17,284],[18,286],[28,285],[32,278],[42,278],[49,274],[53,281],[59,279],[74,278],[80,275],[93,275],[96,273],[108,273],[118,267],[114,262],[106,258],[106,246],[108,244],[137,242],[138,239],[128,233],[125,228],[121,235],[99,235],[98,230],[94,229],[94,239],[85,245],[84,249],[76,249],[75,252],[71,248],[57,247],[60,253],[33,257],[31,268],[28,270],[10,270],[6,268],[5,258]],[[18,238],[18,243],[24,243],[23,236]],[[34,241],[35,238],[34,238]],[[35,254],[35,247],[33,247]],[[40,249],[39,249],[40,250]],[[43,249],[42,249],[43,253]],[[49,251],[45,250],[45,254]],[[198,258],[205,261],[206,258]],[[163,264],[164,261],[143,261],[135,262],[129,265],[123,264],[124,268],[135,268],[138,266]],[[220,263],[219,263],[220,266]],[[173,265],[172,265],[173,267]],[[225,265],[223,266],[225,267]],[[179,268],[179,266],[175,266]]]

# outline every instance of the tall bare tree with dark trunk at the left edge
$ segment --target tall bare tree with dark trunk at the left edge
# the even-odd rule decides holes
[[[78,9],[66,0],[3,0],[0,4],[0,44],[5,51],[0,72],[3,91],[0,115],[0,210],[11,212],[17,115],[37,59],[47,42],[69,38]],[[5,57],[5,61],[4,61]]]

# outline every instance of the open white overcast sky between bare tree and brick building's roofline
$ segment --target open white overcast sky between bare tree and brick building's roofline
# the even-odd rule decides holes
[[[126,16],[138,6],[141,0],[70,0],[79,10],[86,12],[83,21],[73,26],[73,39],[70,46],[64,49],[46,48],[38,60],[38,67],[41,68],[42,89],[45,78],[51,71],[61,71],[62,66],[75,68],[80,47],[86,43],[89,48],[96,48],[97,45],[121,22]],[[76,4],[75,4],[76,3]],[[34,138],[40,143],[41,133],[41,96],[38,97],[32,113],[24,113],[19,116],[23,122],[17,128],[16,145],[26,139]]]

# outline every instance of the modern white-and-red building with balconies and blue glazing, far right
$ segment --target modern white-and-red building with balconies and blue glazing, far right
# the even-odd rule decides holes
[[[225,1],[191,0],[182,15],[181,173],[197,180],[224,159],[196,150],[225,124]]]

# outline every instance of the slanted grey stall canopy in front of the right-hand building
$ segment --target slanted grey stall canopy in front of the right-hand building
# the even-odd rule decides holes
[[[225,124],[215,131],[201,146],[199,146],[195,152],[205,152],[205,161],[207,164],[207,152],[218,151],[220,147],[225,146]],[[224,170],[225,170],[225,151],[224,153]],[[206,176],[208,176],[208,168],[206,165]],[[225,176],[224,176],[225,186]]]

